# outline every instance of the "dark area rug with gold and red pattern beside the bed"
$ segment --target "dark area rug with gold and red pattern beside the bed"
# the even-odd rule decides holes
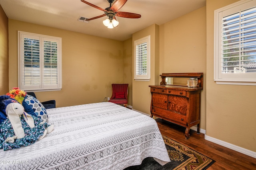
[[[208,158],[172,139],[162,135],[171,162],[161,166],[152,157],[145,158],[142,164],[125,170],[206,170],[215,160]]]

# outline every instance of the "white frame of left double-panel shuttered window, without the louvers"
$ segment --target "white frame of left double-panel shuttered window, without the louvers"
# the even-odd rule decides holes
[[[40,83],[39,84],[30,84],[25,85],[24,80],[24,68],[25,68],[25,57],[24,54],[24,39],[32,39],[34,37],[35,39],[38,39],[40,43],[39,47],[39,65],[40,65]],[[45,84],[44,83],[44,74],[46,73],[46,70],[44,70],[44,59],[46,58],[44,56],[44,53],[46,50],[44,49],[44,42],[50,41],[57,44],[57,68],[56,73],[50,73],[51,76],[53,74],[56,74],[56,84]],[[52,57],[50,57],[52,59]],[[53,62],[51,62],[53,63]],[[51,67],[52,70],[52,67]],[[36,33],[29,33],[24,31],[18,31],[18,84],[21,90],[24,90],[26,92],[40,92],[40,91],[55,91],[55,90],[61,90],[62,89],[62,38],[60,37],[53,37],[48,35],[42,35],[42,34],[36,34]]]

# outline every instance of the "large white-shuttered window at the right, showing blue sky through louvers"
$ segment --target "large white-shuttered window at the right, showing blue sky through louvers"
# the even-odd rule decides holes
[[[215,11],[214,80],[256,85],[256,0]]]

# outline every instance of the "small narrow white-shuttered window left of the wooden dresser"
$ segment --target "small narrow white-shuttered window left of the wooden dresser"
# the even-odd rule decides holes
[[[134,79],[150,80],[150,36],[134,41]]]

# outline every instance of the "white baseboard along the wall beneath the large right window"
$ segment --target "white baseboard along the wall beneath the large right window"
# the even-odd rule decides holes
[[[248,149],[244,149],[242,147],[238,147],[236,145],[233,145],[231,143],[227,143],[227,142],[224,142],[224,141],[221,141],[219,139],[215,139],[213,137],[209,137],[207,135],[204,136],[204,139],[207,140],[207,141],[210,141],[210,142],[213,142],[213,143],[216,143],[218,145],[221,145],[223,147],[226,147],[226,148],[229,148],[229,149],[232,149],[232,150],[235,150],[237,152],[240,152],[242,154],[246,154],[248,156],[251,156],[253,158],[256,158],[256,152],[253,152],[251,150],[248,150]]]

